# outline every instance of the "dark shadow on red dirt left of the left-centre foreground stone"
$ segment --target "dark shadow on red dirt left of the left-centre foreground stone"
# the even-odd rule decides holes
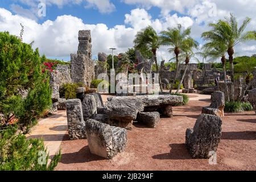
[[[78,152],[73,152],[69,154],[62,154],[60,163],[63,164],[74,164],[74,163],[86,163],[96,160],[106,160],[100,156],[90,153],[89,146],[81,148]]]

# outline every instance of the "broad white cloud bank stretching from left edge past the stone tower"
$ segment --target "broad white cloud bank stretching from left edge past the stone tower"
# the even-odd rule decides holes
[[[135,9],[125,15],[125,23],[130,24],[130,27],[116,25],[109,28],[102,23],[85,24],[82,19],[72,15],[57,16],[54,21],[47,20],[39,24],[30,18],[0,9],[0,31],[9,31],[10,34],[19,35],[20,23],[24,26],[24,42],[30,43],[34,40],[34,47],[39,47],[40,53],[47,56],[67,57],[70,53],[77,51],[79,30],[91,30],[93,55],[97,55],[102,51],[110,53],[110,47],[118,48],[118,52],[127,51],[128,48],[133,47],[137,31],[148,25],[159,32],[167,26],[176,26],[177,23],[191,26],[193,21],[188,17],[179,17],[176,14],[167,16],[165,19],[152,19],[146,10]],[[163,50],[159,51],[159,57],[164,55]],[[165,54],[170,56],[167,52]]]

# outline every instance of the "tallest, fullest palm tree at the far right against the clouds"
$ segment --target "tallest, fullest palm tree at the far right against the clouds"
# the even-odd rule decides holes
[[[237,19],[233,14],[225,20],[218,20],[217,23],[210,23],[212,30],[204,32],[202,38],[209,41],[217,41],[226,44],[229,55],[230,69],[232,71],[232,82],[234,83],[234,64],[233,55],[234,47],[238,43],[246,42],[248,40],[255,40],[254,31],[245,31],[247,24],[251,21],[250,18],[245,18],[242,25],[238,28]],[[232,88],[232,100],[234,100],[234,87]]]

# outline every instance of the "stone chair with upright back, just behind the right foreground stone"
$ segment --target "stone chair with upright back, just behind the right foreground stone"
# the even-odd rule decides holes
[[[213,92],[210,106],[203,107],[202,114],[212,114],[224,117],[225,94],[220,91]]]

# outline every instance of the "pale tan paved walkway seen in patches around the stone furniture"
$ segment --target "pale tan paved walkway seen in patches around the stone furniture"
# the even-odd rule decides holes
[[[202,94],[188,94],[189,100],[209,100],[210,96]],[[107,101],[108,95],[102,95],[102,100]],[[43,138],[46,147],[48,148],[49,155],[54,155],[59,151],[60,144],[67,133],[67,113],[66,111],[58,111],[57,114],[49,118],[39,121],[31,133],[27,135],[28,138]]]

